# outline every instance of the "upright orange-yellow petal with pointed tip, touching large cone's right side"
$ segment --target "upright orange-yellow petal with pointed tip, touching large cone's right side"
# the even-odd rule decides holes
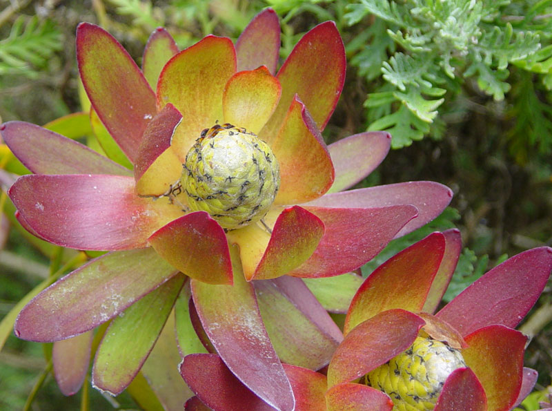
[[[295,96],[274,135],[261,134],[280,166],[275,204],[295,204],[320,197],[331,187],[333,164],[326,143],[304,104]]]

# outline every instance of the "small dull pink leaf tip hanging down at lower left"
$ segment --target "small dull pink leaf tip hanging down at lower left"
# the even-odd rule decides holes
[[[88,373],[92,331],[67,340],[56,341],[52,347],[52,363],[57,386],[63,395],[79,392]]]

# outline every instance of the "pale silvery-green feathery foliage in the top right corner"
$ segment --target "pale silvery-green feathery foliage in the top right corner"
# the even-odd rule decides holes
[[[520,15],[504,19],[506,8]],[[368,128],[394,132],[393,148],[408,146],[428,133],[445,93],[457,93],[465,79],[473,78],[483,93],[501,100],[510,89],[509,65],[544,73],[552,65],[548,61],[552,50],[545,48],[539,54],[540,41],[552,37],[552,30],[545,32],[543,27],[548,26],[542,24],[536,28],[533,19],[541,9],[530,4],[525,9],[512,8],[511,0],[357,0],[350,4],[345,15],[350,25],[374,15],[380,30],[386,29],[386,38],[403,50],[391,52],[388,43],[382,46],[382,39],[371,33],[366,36],[371,41],[368,52],[359,50],[351,59],[361,73],[374,79],[377,59],[371,50],[375,49],[382,78],[396,90],[393,110]],[[524,17],[524,12],[533,17]],[[384,50],[387,59],[381,57]],[[366,105],[376,106],[369,95]]]

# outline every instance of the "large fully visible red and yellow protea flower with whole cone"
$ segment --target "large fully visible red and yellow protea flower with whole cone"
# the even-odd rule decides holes
[[[293,408],[278,357],[288,352],[297,365],[317,369],[341,338],[294,277],[356,269],[395,236],[435,218],[452,195],[433,182],[338,193],[379,164],[390,136],[324,144],[320,132],[345,75],[333,22],[308,32],[275,75],[278,52],[272,10],[255,17],[235,46],[208,36],[177,52],[168,33],[156,30],[143,70],[106,31],[79,26],[77,61],[92,124],[105,126],[121,149],[102,137],[106,152],[124,153],[120,162],[134,166],[32,124],[1,126],[34,173],[9,191],[21,224],[63,247],[110,251],[34,298],[19,314],[17,336],[60,341],[113,318],[93,383],[117,394],[144,363],[177,297],[191,294],[226,364],[267,403]],[[191,291],[181,294],[188,278]],[[290,304],[293,314],[284,309]],[[259,305],[283,314],[263,321]],[[187,301],[181,307],[186,312]],[[179,305],[177,327],[186,322],[178,316]],[[275,342],[283,323],[297,329],[295,345]]]

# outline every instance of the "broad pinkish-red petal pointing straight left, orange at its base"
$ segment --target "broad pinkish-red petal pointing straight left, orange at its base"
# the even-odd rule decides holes
[[[41,238],[75,249],[146,247],[155,230],[182,215],[166,198],[138,197],[134,179],[119,175],[23,175],[8,194]]]

